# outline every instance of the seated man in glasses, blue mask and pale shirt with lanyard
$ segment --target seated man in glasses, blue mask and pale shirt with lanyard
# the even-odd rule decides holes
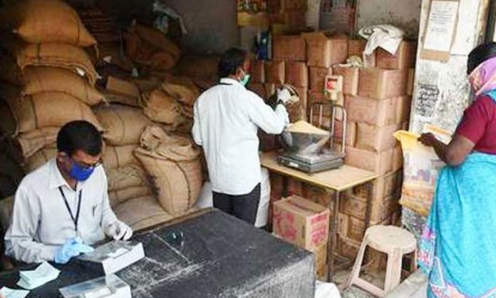
[[[128,240],[128,225],[115,217],[101,165],[103,141],[86,121],[73,121],[57,136],[56,158],[33,171],[17,189],[6,255],[20,262],[66,263],[105,239]]]

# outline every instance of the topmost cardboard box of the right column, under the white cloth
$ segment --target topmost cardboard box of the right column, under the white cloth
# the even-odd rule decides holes
[[[417,43],[402,41],[396,55],[391,55],[383,48],[377,50],[377,67],[385,69],[405,69],[415,67]]]

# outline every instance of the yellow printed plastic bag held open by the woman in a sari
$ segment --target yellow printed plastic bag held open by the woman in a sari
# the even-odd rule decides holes
[[[433,133],[443,142],[450,141],[448,131],[427,125],[426,133]],[[405,130],[398,130],[393,136],[398,139],[403,149],[403,188],[400,204],[422,216],[428,216],[432,204],[435,183],[438,174],[445,165],[433,148],[418,140],[420,135]]]

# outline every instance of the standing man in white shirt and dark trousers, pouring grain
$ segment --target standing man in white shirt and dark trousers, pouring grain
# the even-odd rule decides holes
[[[195,143],[202,146],[212,183],[214,207],[254,224],[260,200],[258,128],[280,134],[289,124],[284,104],[289,92],[279,92],[272,109],[245,86],[249,81],[246,51],[231,48],[219,62],[219,85],[195,103]]]

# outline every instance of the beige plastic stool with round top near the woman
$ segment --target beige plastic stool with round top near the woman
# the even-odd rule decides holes
[[[371,247],[379,252],[388,255],[388,265],[386,268],[386,280],[384,289],[380,289],[374,284],[360,278],[360,270],[365,255],[366,248]],[[401,265],[403,255],[413,254],[412,272],[417,269],[417,242],[415,237],[408,231],[395,226],[376,225],[369,227],[363,237],[358,255],[356,256],[353,271],[351,272],[346,287],[356,285],[361,289],[370,292],[377,297],[384,297],[395,287],[398,287],[401,281]]]

